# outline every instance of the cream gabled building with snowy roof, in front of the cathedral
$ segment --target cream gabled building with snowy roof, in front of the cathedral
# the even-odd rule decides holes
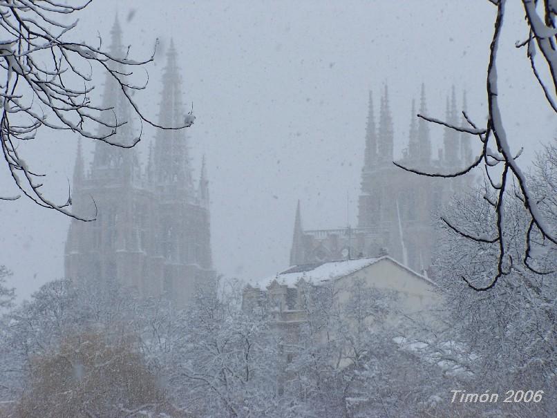
[[[316,345],[324,354],[334,347],[334,358],[328,360],[336,370],[359,367],[355,341],[384,341],[405,350],[406,330],[415,330],[416,324],[435,328],[432,313],[440,297],[429,278],[381,256],[296,265],[252,281],[243,292],[243,309],[270,319],[283,368],[279,390],[285,390],[298,379],[299,355]],[[368,408],[365,388],[354,383],[347,396],[350,416],[367,416],[358,415]]]

